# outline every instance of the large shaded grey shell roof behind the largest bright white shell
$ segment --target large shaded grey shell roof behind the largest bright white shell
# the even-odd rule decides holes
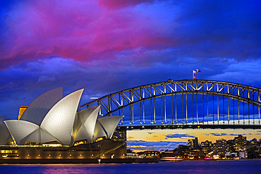
[[[63,88],[52,89],[37,97],[26,108],[20,120],[27,120],[31,123],[41,125],[42,120],[47,115],[51,107],[63,98]]]

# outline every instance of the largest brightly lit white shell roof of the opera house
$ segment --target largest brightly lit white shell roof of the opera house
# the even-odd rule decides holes
[[[56,103],[42,120],[40,127],[61,144],[71,144],[75,114],[82,94],[83,89],[68,94]]]

